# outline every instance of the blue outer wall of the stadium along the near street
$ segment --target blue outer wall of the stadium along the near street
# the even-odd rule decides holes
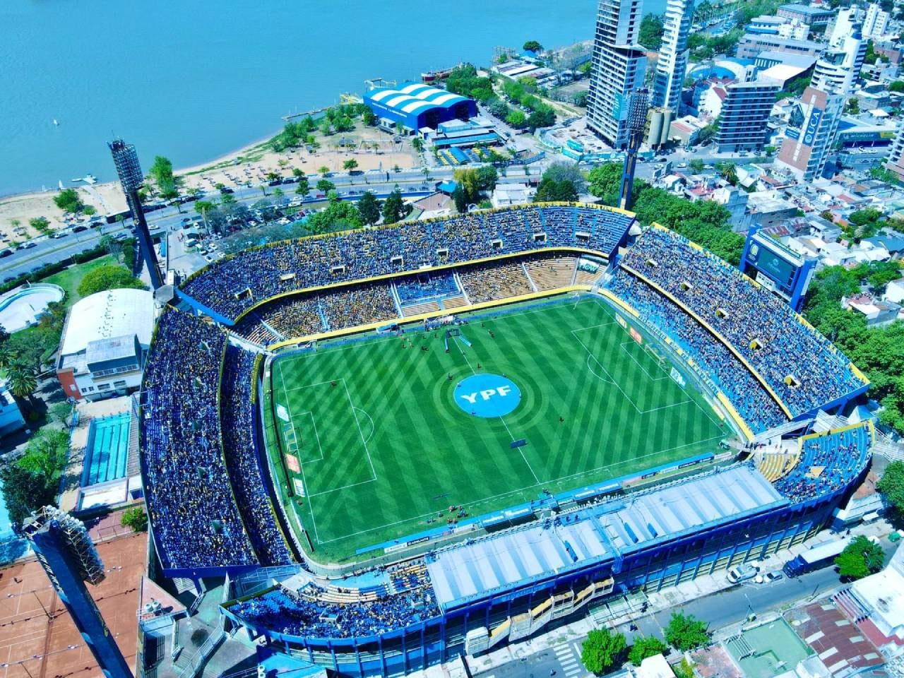
[[[287,636],[272,629],[250,626],[230,611],[221,613],[244,626],[250,636],[266,638],[275,648],[348,676],[391,676],[409,673],[465,654],[468,631],[487,629],[491,642],[504,640],[513,615],[545,610],[536,617],[531,633],[553,619],[566,618],[578,607],[556,614],[554,595],[571,592],[614,579],[613,595],[628,591],[658,591],[704,574],[728,569],[739,562],[759,560],[800,543],[818,532],[831,518],[835,507],[861,476],[851,484],[800,504],[773,504],[747,517],[640,547],[619,560],[601,560],[582,570],[550,573],[519,589],[504,590],[475,600],[463,607],[447,609],[441,617],[428,619],[381,636],[313,638]],[[593,597],[602,599],[602,597]],[[545,619],[545,620],[544,620]]]

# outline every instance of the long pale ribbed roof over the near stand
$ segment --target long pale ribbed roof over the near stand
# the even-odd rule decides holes
[[[457,607],[783,503],[758,471],[731,466],[443,551],[427,567],[439,606]]]

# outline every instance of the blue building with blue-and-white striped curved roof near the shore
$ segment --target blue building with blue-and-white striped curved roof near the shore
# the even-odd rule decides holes
[[[423,127],[436,129],[440,123],[467,120],[477,115],[474,99],[419,82],[405,83],[398,88],[371,89],[364,94],[364,103],[371,108],[381,127],[395,127],[400,123],[408,134]]]

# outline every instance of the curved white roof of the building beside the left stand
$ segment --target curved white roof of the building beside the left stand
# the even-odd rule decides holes
[[[154,295],[145,289],[110,289],[72,305],[60,342],[60,355],[80,353],[89,342],[137,334],[143,346],[154,331]]]

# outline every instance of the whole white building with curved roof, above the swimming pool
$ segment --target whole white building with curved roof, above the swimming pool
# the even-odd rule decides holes
[[[144,289],[111,289],[73,304],[56,365],[66,395],[100,400],[135,391],[154,318],[154,295]]]

